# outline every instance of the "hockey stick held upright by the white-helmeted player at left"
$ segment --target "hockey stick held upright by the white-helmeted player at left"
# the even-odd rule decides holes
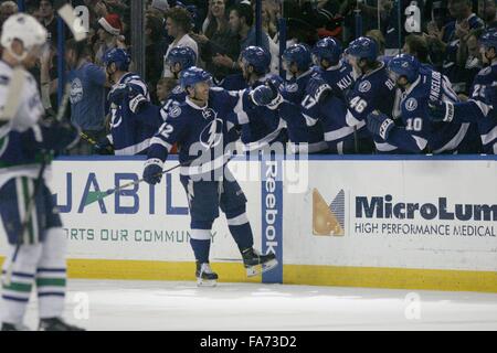
[[[59,15],[64,20],[64,22],[66,23],[66,25],[70,28],[71,32],[74,35],[74,39],[76,40],[76,42],[81,42],[84,41],[86,39],[86,33],[84,31],[81,31],[81,28],[76,28],[77,23],[78,23],[78,19],[74,15],[74,9],[71,4],[65,3],[65,1],[59,2],[59,6],[56,7],[59,10]],[[14,74],[17,76],[14,76]],[[7,105],[3,109],[3,114],[2,117],[4,116],[6,119],[12,119],[14,117],[14,115],[17,114],[18,110],[18,106],[19,106],[19,100],[22,97],[22,86],[23,86],[23,69],[19,68],[19,72],[13,72],[12,75],[12,81],[11,81],[11,87],[9,90],[9,98],[12,95],[17,95],[13,97],[12,100],[10,101],[10,105]],[[56,120],[57,121],[62,121],[62,118],[65,115],[65,111],[67,109],[67,103],[68,103],[68,98],[71,96],[71,85],[66,84],[65,85],[65,93],[62,99],[62,103],[59,107],[59,111],[57,111],[57,116],[56,116]],[[1,125],[0,125],[1,126]],[[33,190],[33,194],[31,195],[30,200],[28,201],[28,206],[27,206],[27,214],[25,214],[25,220],[22,222],[21,224],[21,233],[20,236],[18,237],[18,243],[15,245],[15,250],[14,254],[12,256],[12,260],[9,264],[7,271],[6,271],[6,276],[4,276],[4,284],[6,286],[10,286],[11,284],[11,278],[12,278],[12,270],[13,270],[13,265],[15,263],[15,259],[18,257],[21,244],[22,244],[22,238],[24,237],[24,233],[28,229],[29,223],[31,221],[31,213],[33,211],[35,201],[36,201],[36,195],[39,193],[39,190],[42,185],[43,182],[43,174],[45,172],[46,165],[47,165],[47,161],[46,161],[46,154],[42,153],[43,156],[43,160],[40,167],[40,171],[36,175],[35,179],[35,183],[34,183],[34,190]]]

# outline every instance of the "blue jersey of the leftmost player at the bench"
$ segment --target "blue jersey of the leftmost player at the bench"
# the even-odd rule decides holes
[[[147,85],[133,73],[125,74],[116,85],[133,86],[150,101]],[[150,143],[151,137],[162,124],[162,119],[147,117],[133,110],[133,101],[124,97],[118,104],[110,107],[110,136],[117,156],[144,154]]]

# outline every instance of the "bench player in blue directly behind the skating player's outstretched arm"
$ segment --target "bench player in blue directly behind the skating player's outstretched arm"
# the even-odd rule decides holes
[[[240,54],[240,64],[245,79],[243,88],[255,88],[272,77],[268,74],[271,54],[260,46],[244,49]],[[282,143],[282,151],[285,150],[285,121],[277,110],[253,105],[245,109],[245,114],[236,115],[234,121],[242,126],[241,139],[246,151],[261,150],[274,142]]]

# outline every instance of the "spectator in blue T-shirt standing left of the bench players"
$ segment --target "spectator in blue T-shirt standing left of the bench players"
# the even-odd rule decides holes
[[[77,60],[80,57],[80,60]],[[71,121],[81,127],[94,141],[105,137],[105,69],[92,63],[88,46],[67,41],[65,60],[71,68]],[[92,154],[92,145],[82,140],[74,149],[76,154]]]

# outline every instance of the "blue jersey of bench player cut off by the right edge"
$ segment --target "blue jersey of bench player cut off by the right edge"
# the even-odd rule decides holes
[[[475,122],[482,139],[483,152],[489,154],[497,154],[496,89],[497,63],[494,63],[483,68],[475,77],[470,98],[466,103],[456,105],[453,119],[459,122]],[[464,109],[458,109],[457,106]]]

